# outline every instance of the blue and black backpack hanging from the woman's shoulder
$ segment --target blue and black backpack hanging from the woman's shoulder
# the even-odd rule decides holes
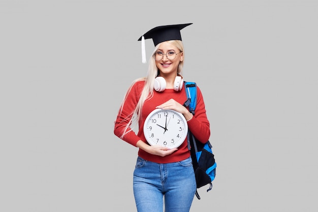
[[[187,100],[184,102],[184,107],[188,107],[190,113],[195,115],[196,103],[197,103],[197,85],[194,82],[184,82]],[[198,193],[198,188],[210,184],[212,189],[212,181],[215,178],[216,163],[212,152],[212,146],[210,142],[201,143],[190,130],[188,130],[187,136],[188,149],[191,153],[193,161],[193,168],[196,175],[197,190],[196,196],[201,199]]]

